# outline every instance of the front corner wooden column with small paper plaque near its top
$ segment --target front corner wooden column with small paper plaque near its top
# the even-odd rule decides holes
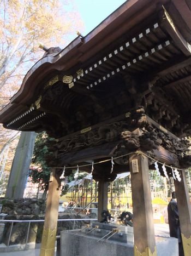
[[[157,255],[147,157],[129,158],[133,200],[134,256]]]

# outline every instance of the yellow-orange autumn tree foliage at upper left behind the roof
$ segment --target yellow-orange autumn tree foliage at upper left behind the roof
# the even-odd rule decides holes
[[[83,24],[73,0],[1,0],[0,26],[2,109],[20,88],[27,71],[43,56],[39,43],[47,48],[64,48]],[[8,156],[11,162],[19,134],[0,124],[0,135],[0,151],[13,141]],[[10,170],[10,166],[6,165],[5,170]]]

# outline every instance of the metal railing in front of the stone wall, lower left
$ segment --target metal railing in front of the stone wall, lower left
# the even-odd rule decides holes
[[[59,221],[74,221],[73,223],[73,229],[75,229],[75,224],[76,221],[86,221],[89,222],[91,224],[92,221],[96,221],[97,219],[89,219],[89,218],[85,218],[85,219],[58,219]],[[25,243],[25,250],[27,250],[27,245],[28,245],[28,236],[29,236],[29,230],[31,227],[31,223],[43,223],[44,220],[0,220],[0,224],[1,223],[11,223],[11,227],[10,227],[10,232],[9,232],[9,238],[8,238],[8,243],[7,243],[7,248],[5,249],[5,251],[8,252],[9,246],[10,246],[10,238],[11,238],[11,234],[13,231],[13,225],[14,223],[28,223],[27,226],[27,235],[26,235],[26,243]],[[57,236],[57,245],[60,244],[60,236]],[[58,246],[58,251],[60,250],[59,246]],[[57,255],[59,255],[57,253]]]

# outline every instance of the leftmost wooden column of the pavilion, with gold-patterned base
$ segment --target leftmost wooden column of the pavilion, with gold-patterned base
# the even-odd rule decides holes
[[[60,187],[59,177],[53,169],[49,181],[40,256],[53,256],[55,254]]]

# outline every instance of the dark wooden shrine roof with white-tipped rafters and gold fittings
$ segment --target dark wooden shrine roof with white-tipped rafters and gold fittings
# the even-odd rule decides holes
[[[127,1],[86,37],[39,60],[0,122],[59,138],[144,105],[153,120],[189,135],[190,5]]]

